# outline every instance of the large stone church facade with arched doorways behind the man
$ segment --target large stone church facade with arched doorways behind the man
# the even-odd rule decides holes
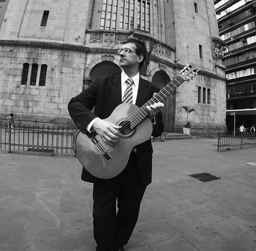
[[[67,104],[97,76],[121,71],[117,50],[142,39],[141,76],[160,88],[192,63],[201,70],[164,101],[165,131],[223,131],[225,72],[212,0],[1,0],[0,121],[73,127]]]

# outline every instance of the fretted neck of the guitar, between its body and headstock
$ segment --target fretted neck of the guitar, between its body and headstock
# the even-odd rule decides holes
[[[147,106],[153,105],[154,103],[163,102],[168,96],[170,96],[184,80],[181,75],[178,75],[169,84],[167,84],[161,91],[156,93],[151,99],[142,105],[136,112],[134,112],[128,120],[130,121],[130,128],[135,128],[143,119],[149,115]]]

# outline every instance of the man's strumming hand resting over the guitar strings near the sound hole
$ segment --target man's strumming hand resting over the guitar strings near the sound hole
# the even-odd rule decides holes
[[[118,139],[118,129],[122,127],[115,125],[106,120],[97,119],[93,125],[92,129],[100,135],[102,140],[110,146],[115,146]]]

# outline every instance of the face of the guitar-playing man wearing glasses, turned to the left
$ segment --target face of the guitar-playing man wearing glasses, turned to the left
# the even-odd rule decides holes
[[[136,46],[134,44],[128,43],[122,45],[120,49],[125,49],[128,48],[131,51],[125,53],[122,51],[119,55],[121,57],[119,65],[121,68],[127,68],[127,67],[134,67],[140,63],[141,61],[141,56],[137,55],[134,51],[136,50]]]

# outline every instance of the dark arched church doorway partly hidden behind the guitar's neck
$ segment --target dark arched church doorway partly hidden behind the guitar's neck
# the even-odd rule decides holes
[[[164,71],[157,71],[152,77],[152,83],[154,83],[160,90],[163,89],[167,84],[171,82],[170,77]],[[173,109],[173,95],[167,97],[164,101],[163,113],[163,122],[164,122],[164,131],[171,132],[172,130],[172,109]]]

